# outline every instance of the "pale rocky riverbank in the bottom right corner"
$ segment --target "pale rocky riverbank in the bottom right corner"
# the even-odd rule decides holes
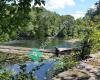
[[[58,74],[53,80],[100,80],[100,52],[80,61],[74,68]]]

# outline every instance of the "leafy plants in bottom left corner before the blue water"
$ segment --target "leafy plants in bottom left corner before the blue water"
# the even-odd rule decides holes
[[[28,79],[36,80],[34,73],[32,72],[26,73],[26,71],[24,71],[22,67],[21,67],[21,72],[17,75],[15,72],[6,70],[0,73],[0,80],[28,80]]]

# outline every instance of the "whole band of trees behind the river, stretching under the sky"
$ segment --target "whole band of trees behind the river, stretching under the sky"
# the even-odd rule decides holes
[[[84,35],[86,18],[100,28],[100,0],[96,9],[89,9],[84,18],[59,15],[46,9],[21,7],[23,4],[6,4],[1,1],[0,40],[42,39],[56,35],[58,38],[80,38]],[[25,3],[28,5],[28,2]],[[24,6],[25,6],[24,4]],[[19,7],[20,6],[20,7]],[[23,9],[22,9],[23,8]],[[64,28],[63,28],[64,27]]]

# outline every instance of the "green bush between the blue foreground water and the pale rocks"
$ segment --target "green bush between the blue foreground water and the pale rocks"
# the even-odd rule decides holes
[[[47,77],[51,79],[58,73],[74,67],[78,63],[75,55],[77,54],[72,53],[72,55],[57,58],[56,63],[48,70]]]

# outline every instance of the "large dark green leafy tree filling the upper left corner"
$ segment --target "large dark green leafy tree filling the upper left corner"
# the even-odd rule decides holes
[[[22,27],[30,21],[32,0],[2,0],[0,1],[0,39],[15,39]],[[35,0],[34,5],[45,4],[44,0]]]

